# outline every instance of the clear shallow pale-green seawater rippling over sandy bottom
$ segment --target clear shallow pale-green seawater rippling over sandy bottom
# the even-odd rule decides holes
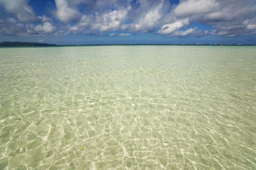
[[[0,48],[0,169],[256,169],[256,46]]]

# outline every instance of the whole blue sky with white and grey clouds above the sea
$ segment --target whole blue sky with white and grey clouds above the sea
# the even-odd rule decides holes
[[[255,0],[0,0],[0,41],[256,44]]]

